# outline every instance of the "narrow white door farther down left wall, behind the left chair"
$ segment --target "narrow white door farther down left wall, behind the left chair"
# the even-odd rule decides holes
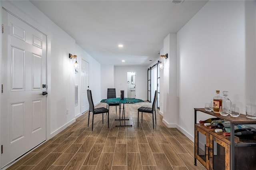
[[[89,103],[87,98],[87,89],[89,89],[89,63],[81,60],[81,113],[89,110]]]

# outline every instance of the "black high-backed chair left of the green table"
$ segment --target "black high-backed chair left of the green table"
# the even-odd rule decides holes
[[[90,120],[90,112],[92,112],[92,130],[93,130],[93,120],[94,120],[94,115],[96,114],[102,114],[102,124],[103,124],[103,113],[107,113],[108,115],[108,122],[109,122],[109,111],[105,107],[100,107],[100,108],[94,108],[93,100],[92,100],[92,91],[87,90],[87,97],[89,101],[89,115],[88,115],[88,127],[89,127],[89,120]],[[108,128],[109,128],[109,123],[108,123]]]

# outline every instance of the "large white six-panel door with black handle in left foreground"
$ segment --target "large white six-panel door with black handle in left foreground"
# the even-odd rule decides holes
[[[3,10],[1,168],[46,140],[46,36]]]

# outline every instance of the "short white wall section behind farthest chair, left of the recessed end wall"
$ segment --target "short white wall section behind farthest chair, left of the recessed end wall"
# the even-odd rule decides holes
[[[107,98],[108,88],[114,87],[114,65],[101,65],[101,99]]]

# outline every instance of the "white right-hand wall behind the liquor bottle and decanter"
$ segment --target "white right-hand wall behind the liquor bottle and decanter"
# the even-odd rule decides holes
[[[245,46],[255,40],[255,29],[245,36],[244,1],[209,1],[178,33],[178,85],[180,113],[178,125],[194,136],[194,108],[204,107],[215,90],[229,91],[233,104],[245,113],[246,70],[252,70],[251,94],[255,97],[255,62],[246,65]],[[255,2],[251,2],[254,5]],[[254,17],[255,18],[255,15]],[[254,20],[255,28],[255,20]],[[246,40],[249,39],[249,40]],[[254,41],[255,49],[255,41]],[[248,51],[251,52],[250,49]],[[249,67],[249,68],[247,68]],[[251,71],[250,71],[251,72]],[[207,116],[199,115],[204,120]]]

